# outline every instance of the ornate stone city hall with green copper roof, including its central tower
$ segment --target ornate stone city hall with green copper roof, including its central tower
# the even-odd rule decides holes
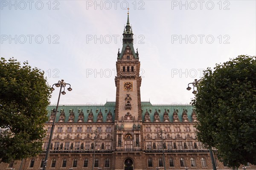
[[[115,102],[59,106],[47,170],[161,170],[164,165],[166,170],[212,170],[209,150],[195,135],[197,116],[191,105],[141,101],[140,58],[133,46],[129,13],[116,70]],[[55,107],[47,108],[43,152],[23,160],[22,170],[42,168]],[[230,169],[214,156],[218,170]],[[20,164],[1,164],[0,170],[18,170]],[[256,169],[251,164],[245,167]]]

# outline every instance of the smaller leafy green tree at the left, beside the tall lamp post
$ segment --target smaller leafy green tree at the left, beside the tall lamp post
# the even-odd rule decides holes
[[[50,93],[44,71],[0,59],[0,162],[40,152]]]

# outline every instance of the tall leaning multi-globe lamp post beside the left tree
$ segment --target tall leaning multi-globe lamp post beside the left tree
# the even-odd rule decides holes
[[[52,129],[51,129],[51,132],[50,132],[49,142],[48,142],[48,145],[47,145],[47,151],[46,151],[46,154],[45,154],[43,170],[46,170],[46,166],[47,166],[47,161],[48,161],[48,157],[49,157],[49,153],[50,153],[50,147],[51,147],[51,143],[52,143],[52,135],[53,135],[54,127],[55,127],[56,115],[57,115],[57,112],[58,112],[58,105],[59,105],[61,94],[63,94],[63,95],[66,94],[66,92],[65,92],[66,85],[70,86],[69,88],[67,88],[67,90],[72,91],[71,85],[69,83],[65,83],[63,79],[61,81],[59,80],[58,83],[55,83],[55,84],[52,85],[52,88],[51,88],[52,91],[55,90],[53,88],[54,85],[57,88],[60,87],[60,92],[59,92],[59,96],[58,96],[58,102],[57,102],[56,109],[53,109],[54,118],[53,118],[53,122],[52,122]],[[64,88],[63,91],[61,91],[62,88]]]

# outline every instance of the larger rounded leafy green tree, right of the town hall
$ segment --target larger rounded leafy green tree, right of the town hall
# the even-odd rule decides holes
[[[256,57],[207,68],[192,100],[198,116],[199,141],[218,149],[230,167],[256,164]]]

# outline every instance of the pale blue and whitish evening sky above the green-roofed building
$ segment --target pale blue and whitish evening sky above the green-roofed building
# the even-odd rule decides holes
[[[11,2],[0,0],[0,56],[41,68],[49,85],[60,79],[70,83],[73,91],[61,96],[61,104],[116,99],[114,69],[127,4],[143,69],[143,101],[189,103],[193,95],[187,84],[203,69],[241,54],[256,55],[255,0],[182,1],[184,6],[156,0]],[[52,104],[57,96],[54,91]]]

